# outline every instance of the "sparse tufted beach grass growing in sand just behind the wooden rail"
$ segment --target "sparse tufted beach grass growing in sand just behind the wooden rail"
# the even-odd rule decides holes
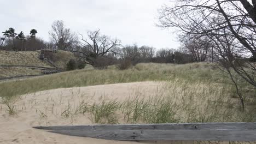
[[[85,99],[78,104],[71,98],[73,101],[63,101],[65,109],[61,108],[56,116],[84,116],[100,124],[255,122],[254,107],[246,106],[245,111],[240,111],[231,89],[231,85],[221,83],[175,79],[161,84],[152,97],[135,93],[121,101],[103,97],[97,101]],[[246,103],[251,100],[247,99]],[[53,107],[50,109],[54,115]],[[40,117],[43,114],[40,112]]]

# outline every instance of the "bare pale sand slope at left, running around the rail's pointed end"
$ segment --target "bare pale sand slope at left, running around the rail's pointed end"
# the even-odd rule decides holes
[[[92,124],[88,115],[64,118],[61,113],[67,109],[68,104],[71,106],[71,110],[74,110],[82,100],[98,101],[103,98],[124,100],[135,95],[149,97],[161,88],[162,84],[159,82],[135,82],[61,88],[22,95],[15,103],[18,115],[9,116],[6,111],[7,107],[0,104],[0,143],[138,143],[66,136],[31,127],[36,125]]]

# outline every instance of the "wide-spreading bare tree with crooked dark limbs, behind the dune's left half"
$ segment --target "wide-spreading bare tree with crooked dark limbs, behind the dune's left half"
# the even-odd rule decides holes
[[[106,67],[109,53],[116,55],[118,47],[121,46],[120,40],[100,34],[100,29],[88,31],[88,39],[85,39],[82,34],[80,35],[82,36],[81,46],[77,46],[71,51],[77,53],[77,56],[83,59],[86,64],[95,68]]]

